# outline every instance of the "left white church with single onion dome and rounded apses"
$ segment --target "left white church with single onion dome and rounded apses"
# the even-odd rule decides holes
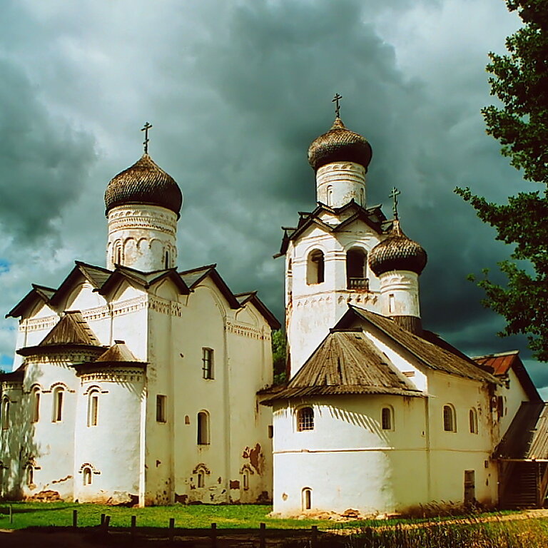
[[[116,504],[271,498],[278,321],[215,265],[176,269],[182,194],[148,153],[108,184],[106,268],[33,285],[1,376],[0,489]]]

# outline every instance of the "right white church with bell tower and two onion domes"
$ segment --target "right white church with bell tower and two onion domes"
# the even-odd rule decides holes
[[[308,151],[315,208],[283,228],[290,380],[261,392],[274,512],[542,505],[548,408],[516,352],[471,359],[422,327],[427,255],[395,188],[393,218],[367,204],[371,157],[337,112]]]

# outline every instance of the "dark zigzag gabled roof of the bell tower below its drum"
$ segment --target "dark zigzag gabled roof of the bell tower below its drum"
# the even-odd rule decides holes
[[[342,213],[345,213],[347,210],[354,210],[354,213],[338,225],[330,225],[320,219],[320,215],[322,213],[331,213],[332,215],[338,216]],[[297,239],[305,230],[307,230],[307,228],[309,228],[313,224],[318,225],[320,228],[330,233],[344,229],[347,225],[357,219],[362,220],[370,228],[372,228],[372,230],[375,230],[377,234],[381,234],[385,232],[387,228],[390,228],[390,222],[389,225],[386,225],[387,219],[385,217],[385,214],[382,213],[380,205],[373,205],[370,208],[362,208],[362,206],[357,204],[353,199],[350,200],[350,202],[348,202],[347,204],[342,205],[342,207],[340,208],[330,208],[329,205],[318,202],[318,207],[315,208],[315,210],[313,210],[311,213],[300,211],[299,215],[300,218],[297,228],[282,227],[284,233],[282,238],[282,244],[280,247],[280,253],[274,255],[274,258],[285,255],[288,250],[288,245],[290,241]]]

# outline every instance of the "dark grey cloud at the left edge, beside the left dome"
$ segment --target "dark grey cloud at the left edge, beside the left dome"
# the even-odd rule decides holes
[[[0,58],[0,74],[0,226],[17,240],[51,236],[85,186],[93,139],[50,116],[16,64]]]

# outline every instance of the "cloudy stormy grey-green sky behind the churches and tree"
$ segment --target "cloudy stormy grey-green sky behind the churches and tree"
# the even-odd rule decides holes
[[[218,263],[282,319],[280,225],[315,205],[310,141],[343,96],[370,141],[367,202],[400,188],[427,250],[422,315],[470,355],[519,348],[548,366],[466,280],[511,251],[453,193],[532,188],[486,135],[487,53],[519,28],[503,0],[4,0],[0,34],[0,309],[57,287],[74,259],[104,265],[108,181],[149,151],[184,195],[179,267]],[[9,369],[15,320],[0,322]]]

